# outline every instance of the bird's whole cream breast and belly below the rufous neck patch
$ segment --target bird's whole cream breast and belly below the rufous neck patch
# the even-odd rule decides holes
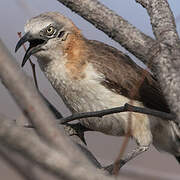
[[[104,76],[97,73],[91,64],[86,66],[81,78],[74,78],[72,72],[68,72],[63,63],[54,62],[43,68],[43,71],[65,104],[74,112],[103,110],[123,106],[129,102],[126,97],[104,87],[101,84]],[[128,119],[128,114],[120,114],[89,118],[81,122],[89,128],[106,134],[122,135],[126,129],[125,121]]]

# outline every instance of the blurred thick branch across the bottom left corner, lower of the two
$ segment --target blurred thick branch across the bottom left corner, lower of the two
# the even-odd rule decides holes
[[[31,162],[37,163],[57,177],[68,180],[112,179],[104,176],[89,163],[81,161],[81,156],[67,156],[65,152],[57,151],[53,146],[44,143],[35,133],[30,133],[32,130],[17,127],[5,116],[0,116],[0,124],[1,144],[21,153]]]

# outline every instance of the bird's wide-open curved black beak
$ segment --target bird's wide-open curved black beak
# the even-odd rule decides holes
[[[21,67],[25,65],[27,60],[32,54],[35,54],[36,52],[42,50],[42,45],[45,44],[47,41],[45,39],[42,39],[41,37],[35,37],[33,38],[29,33],[26,33],[17,43],[15,52],[18,51],[18,49],[26,42],[29,42],[29,48],[27,49]]]

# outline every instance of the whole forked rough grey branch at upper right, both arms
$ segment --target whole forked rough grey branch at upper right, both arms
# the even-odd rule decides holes
[[[155,75],[158,73],[164,95],[172,110],[180,117],[179,37],[166,0],[136,0],[147,9],[157,42],[97,0],[58,1],[119,42],[146,65],[153,59],[154,63],[148,67]]]

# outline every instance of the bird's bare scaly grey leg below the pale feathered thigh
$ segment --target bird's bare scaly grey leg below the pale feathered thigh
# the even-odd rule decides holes
[[[136,156],[138,156],[139,154],[147,151],[149,149],[149,146],[138,146],[136,149],[134,149],[132,152],[128,153],[126,157],[117,160],[114,165],[113,165],[113,169],[112,169],[112,174],[117,175],[117,173],[119,172],[119,169],[124,166],[128,161],[130,161],[131,159],[135,158]],[[110,167],[108,167],[109,169]],[[106,168],[105,168],[106,169]]]

